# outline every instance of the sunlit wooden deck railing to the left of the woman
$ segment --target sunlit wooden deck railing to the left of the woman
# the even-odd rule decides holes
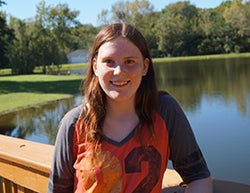
[[[0,192],[47,192],[54,147],[0,135]]]

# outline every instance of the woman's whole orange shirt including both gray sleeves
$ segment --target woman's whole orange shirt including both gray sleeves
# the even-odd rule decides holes
[[[60,122],[48,193],[161,192],[168,159],[185,183],[210,176],[192,128],[169,94],[159,96],[154,140],[149,140],[147,129],[142,136],[145,146],[138,143],[135,131],[119,143],[105,139],[93,161],[77,129],[82,108],[72,109]]]

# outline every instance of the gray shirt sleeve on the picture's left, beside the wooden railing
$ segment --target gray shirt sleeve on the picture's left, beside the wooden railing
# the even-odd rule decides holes
[[[48,193],[68,193],[74,189],[73,138],[80,108],[69,111],[61,120],[55,142]]]

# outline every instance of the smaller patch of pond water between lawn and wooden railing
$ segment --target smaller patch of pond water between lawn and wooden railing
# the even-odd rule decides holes
[[[0,133],[45,144],[54,144],[58,123],[82,98],[76,96],[33,106],[0,116]]]

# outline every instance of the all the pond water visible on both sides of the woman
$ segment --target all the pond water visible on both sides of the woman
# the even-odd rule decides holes
[[[158,86],[183,107],[212,176],[250,184],[250,58],[155,65]],[[0,133],[53,144],[62,116],[82,98],[0,116]]]

